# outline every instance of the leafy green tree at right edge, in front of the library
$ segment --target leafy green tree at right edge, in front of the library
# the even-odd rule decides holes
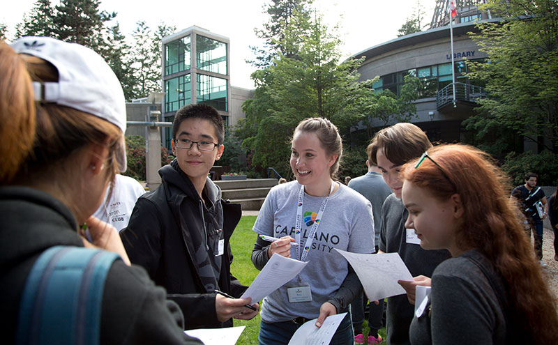
[[[489,0],[482,8],[503,20],[471,33],[490,62],[469,63],[488,93],[469,124],[504,126],[558,153],[558,3]]]

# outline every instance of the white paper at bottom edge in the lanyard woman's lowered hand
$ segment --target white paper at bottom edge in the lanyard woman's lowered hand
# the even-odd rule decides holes
[[[310,320],[299,327],[292,335],[289,345],[327,345],[335,335],[341,321],[347,313],[326,317],[322,327],[316,327],[316,320]]]

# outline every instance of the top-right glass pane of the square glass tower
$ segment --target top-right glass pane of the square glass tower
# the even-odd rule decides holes
[[[196,36],[196,66],[201,70],[227,74],[227,43]]]

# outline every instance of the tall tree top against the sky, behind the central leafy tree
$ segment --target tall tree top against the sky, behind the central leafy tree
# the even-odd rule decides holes
[[[293,50],[295,45],[283,45],[293,39],[296,41],[296,36],[291,39],[285,38],[285,29],[292,24],[292,20],[308,22],[311,4],[312,0],[271,0],[271,3],[266,4],[264,13],[269,15],[269,21],[263,24],[263,29],[254,29],[256,36],[264,40],[264,47],[250,47],[256,59],[247,62],[257,68],[266,68],[278,53],[290,58],[296,56],[297,52]],[[296,17],[295,11],[299,13]]]

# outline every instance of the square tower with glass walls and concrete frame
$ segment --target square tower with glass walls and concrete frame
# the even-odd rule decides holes
[[[191,103],[211,105],[229,123],[229,39],[197,26],[163,38],[163,121]],[[170,148],[171,128],[164,143]]]

